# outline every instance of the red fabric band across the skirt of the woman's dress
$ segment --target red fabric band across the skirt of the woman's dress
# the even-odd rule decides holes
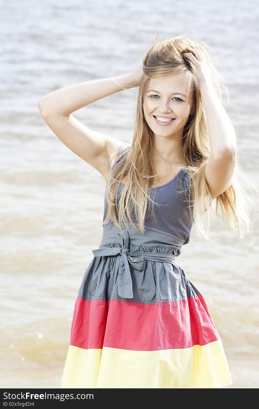
[[[201,294],[155,304],[77,297],[70,345],[133,351],[189,348],[219,339]]]

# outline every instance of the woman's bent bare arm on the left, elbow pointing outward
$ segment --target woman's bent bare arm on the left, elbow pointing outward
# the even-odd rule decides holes
[[[123,88],[134,88],[140,80],[138,69],[117,77],[69,85],[45,95],[38,102],[41,115],[54,134],[71,151],[99,171],[106,181],[109,157],[123,142],[87,128],[71,113]]]

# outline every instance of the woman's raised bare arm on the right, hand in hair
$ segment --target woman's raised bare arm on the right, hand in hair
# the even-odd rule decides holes
[[[210,156],[205,165],[205,178],[212,200],[230,187],[236,165],[236,134],[211,81],[209,68],[202,52],[195,48],[185,56],[194,63],[199,76],[200,94],[207,119]]]

